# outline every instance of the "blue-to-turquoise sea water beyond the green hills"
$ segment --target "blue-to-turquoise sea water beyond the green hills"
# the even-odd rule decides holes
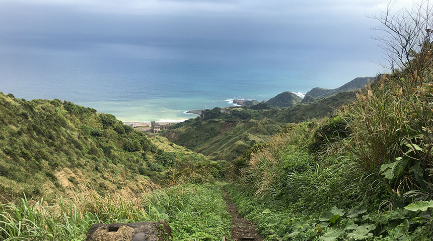
[[[59,98],[112,113],[121,121],[180,121],[189,109],[267,100],[290,90],[338,87],[372,76],[370,61],[287,58],[152,59],[11,54],[0,59],[0,91],[25,99]]]

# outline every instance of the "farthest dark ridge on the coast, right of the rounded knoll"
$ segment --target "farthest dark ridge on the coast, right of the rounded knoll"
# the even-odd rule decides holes
[[[373,82],[375,80],[375,77],[357,77],[351,80],[348,83],[345,83],[344,85],[335,88],[335,89],[325,89],[325,88],[312,88],[310,91],[308,91],[305,94],[305,97],[311,96],[314,99],[323,99],[325,97],[329,97],[333,94],[336,94],[338,92],[343,91],[354,91],[359,88],[364,88],[369,82]],[[304,101],[305,103],[306,101]]]

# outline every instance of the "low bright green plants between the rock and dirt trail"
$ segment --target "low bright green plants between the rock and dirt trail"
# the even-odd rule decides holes
[[[221,184],[183,184],[159,189],[144,195],[143,206],[150,215],[168,219],[175,240],[221,241],[223,235],[230,240],[230,214]]]

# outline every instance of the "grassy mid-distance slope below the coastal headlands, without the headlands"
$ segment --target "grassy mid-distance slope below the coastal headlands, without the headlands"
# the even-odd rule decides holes
[[[213,160],[230,161],[254,144],[270,140],[286,124],[329,115],[353,99],[353,92],[340,92],[313,103],[283,109],[236,108],[232,115],[222,114],[219,119],[204,122],[200,118],[191,119],[159,135]],[[224,122],[227,120],[235,120],[235,123]]]

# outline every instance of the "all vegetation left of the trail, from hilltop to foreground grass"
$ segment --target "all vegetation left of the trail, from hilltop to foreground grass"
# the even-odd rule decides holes
[[[175,240],[230,236],[221,185],[206,184],[225,162],[58,99],[0,93],[0,137],[2,240],[83,240],[93,223],[159,218]]]

